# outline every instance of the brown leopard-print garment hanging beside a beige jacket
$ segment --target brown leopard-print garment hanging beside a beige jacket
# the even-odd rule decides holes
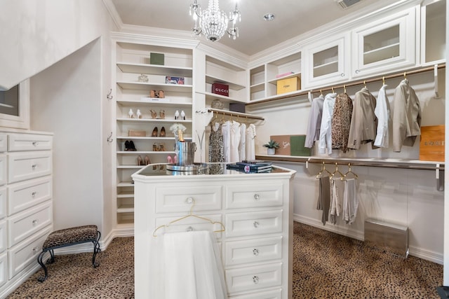
[[[347,93],[340,93],[335,99],[332,117],[332,148],[348,151],[349,129],[351,127],[352,99]]]

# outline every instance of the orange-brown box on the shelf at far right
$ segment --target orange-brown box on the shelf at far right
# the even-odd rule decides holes
[[[420,160],[444,161],[444,125],[421,127]]]

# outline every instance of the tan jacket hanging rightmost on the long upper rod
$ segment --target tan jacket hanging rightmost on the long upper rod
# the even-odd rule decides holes
[[[394,90],[393,102],[393,151],[399,152],[402,146],[413,146],[421,135],[421,107],[407,79]]]

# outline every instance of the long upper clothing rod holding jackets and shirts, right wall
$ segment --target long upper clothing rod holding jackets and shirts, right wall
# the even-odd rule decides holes
[[[439,64],[438,65],[438,69],[443,69],[446,67],[446,64]],[[402,71],[401,73],[397,73],[397,74],[389,74],[389,75],[385,75],[382,77],[376,77],[376,78],[368,78],[366,80],[361,80],[361,81],[353,81],[353,82],[348,82],[342,85],[326,85],[324,88],[319,88],[319,89],[314,89],[314,90],[304,90],[301,92],[297,92],[297,93],[293,93],[292,95],[277,95],[276,97],[273,97],[271,99],[262,99],[260,101],[257,102],[252,102],[252,103],[246,103],[245,106],[250,106],[250,105],[257,105],[257,104],[264,104],[267,102],[275,102],[275,101],[280,101],[280,100],[285,100],[285,99],[290,99],[291,97],[299,97],[301,95],[308,95],[309,92],[323,92],[323,91],[328,91],[328,90],[332,90],[332,89],[338,89],[338,88],[342,88],[344,89],[345,87],[350,87],[350,86],[356,86],[356,85],[364,85],[366,83],[373,83],[376,81],[384,81],[387,79],[391,79],[391,78],[398,78],[401,76],[404,76],[404,74],[407,75],[414,75],[414,74],[420,74],[420,73],[424,73],[427,71],[434,71],[435,67],[424,67],[422,69],[413,69],[411,71]]]

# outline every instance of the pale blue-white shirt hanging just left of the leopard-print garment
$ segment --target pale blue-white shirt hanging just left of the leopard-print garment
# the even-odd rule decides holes
[[[334,113],[336,93],[328,93],[324,97],[323,114],[321,116],[320,138],[318,143],[318,152],[320,154],[332,153],[332,116]]]

